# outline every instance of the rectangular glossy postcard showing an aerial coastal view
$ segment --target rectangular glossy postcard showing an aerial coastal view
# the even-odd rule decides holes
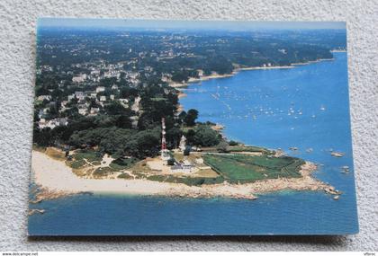
[[[28,234],[356,234],[345,22],[40,18]]]

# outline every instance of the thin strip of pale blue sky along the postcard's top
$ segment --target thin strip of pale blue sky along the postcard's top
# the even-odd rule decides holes
[[[165,21],[165,20],[126,20],[126,19],[84,19],[84,18],[40,18],[40,28],[81,27],[118,28],[149,30],[318,30],[346,29],[346,22],[240,22],[240,21]]]

